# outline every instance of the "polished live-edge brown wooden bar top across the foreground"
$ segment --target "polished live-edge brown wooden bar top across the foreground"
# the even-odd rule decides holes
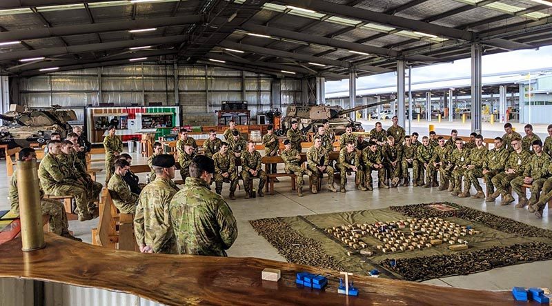
[[[0,277],[96,287],[167,305],[531,305],[509,291],[440,287],[352,276],[359,296],[337,294],[339,272],[259,258],[140,254],[77,243],[46,233],[46,248],[21,251],[15,238],[0,245]],[[282,270],[279,282],[262,269]],[[327,275],[319,291],[295,285],[295,272]],[[534,304],[537,305],[537,304]]]

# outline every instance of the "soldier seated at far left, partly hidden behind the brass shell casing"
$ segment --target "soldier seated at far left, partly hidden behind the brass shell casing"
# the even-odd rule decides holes
[[[28,161],[29,163],[36,162],[37,154],[30,147],[23,148],[19,151],[19,161]],[[67,222],[67,215],[65,213],[65,207],[58,200],[50,200],[49,198],[44,198],[44,191],[40,186],[40,210],[43,216],[50,216],[49,227],[50,232],[70,238],[76,241],[82,241],[79,238],[75,238],[69,233],[68,227],[69,223]],[[12,174],[12,179],[10,180],[9,185],[9,198],[11,211],[14,214],[19,215],[19,191],[17,190],[17,170]]]

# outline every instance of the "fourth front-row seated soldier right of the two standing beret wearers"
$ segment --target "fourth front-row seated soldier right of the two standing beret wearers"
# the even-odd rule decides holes
[[[337,192],[335,187],[333,187],[333,167],[329,165],[330,155],[328,151],[322,147],[322,139],[319,137],[314,138],[314,145],[308,148],[306,152],[306,161],[308,170],[311,170],[313,175],[311,176],[312,192],[313,194],[318,192],[318,181],[320,176],[324,173],[328,174],[328,190],[331,192]],[[293,148],[293,145],[292,145]]]

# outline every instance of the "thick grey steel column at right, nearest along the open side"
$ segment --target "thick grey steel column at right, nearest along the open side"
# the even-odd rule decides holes
[[[471,45],[471,132],[481,134],[481,45]]]

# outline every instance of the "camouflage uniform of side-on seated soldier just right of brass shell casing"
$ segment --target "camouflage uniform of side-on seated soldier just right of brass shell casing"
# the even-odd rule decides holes
[[[88,197],[83,187],[66,182],[61,163],[52,154],[46,154],[39,166],[40,185],[46,194],[54,196],[73,196],[77,208],[75,212],[79,218],[92,214],[93,210],[88,207]]]

